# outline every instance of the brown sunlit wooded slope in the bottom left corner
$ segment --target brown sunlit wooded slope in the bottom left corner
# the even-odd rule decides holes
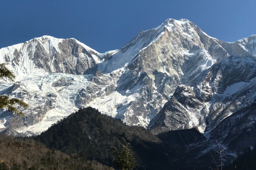
[[[0,170],[106,170],[97,161],[47,148],[33,139],[24,141],[0,134]]]

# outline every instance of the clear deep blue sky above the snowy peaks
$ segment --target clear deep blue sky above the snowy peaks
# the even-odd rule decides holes
[[[168,18],[186,18],[233,42],[256,34],[255,7],[255,0],[0,0],[0,48],[51,35],[103,53]]]

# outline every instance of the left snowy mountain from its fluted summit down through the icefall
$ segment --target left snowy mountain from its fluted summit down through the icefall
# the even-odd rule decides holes
[[[2,48],[0,54],[1,63],[8,63],[17,77],[14,84],[1,80],[0,93],[29,104],[23,118],[6,111],[1,114],[1,128],[11,128],[11,133],[31,125],[36,125],[35,132],[45,130],[76,110],[75,95],[88,86],[99,60],[99,53],[75,39],[50,36]]]

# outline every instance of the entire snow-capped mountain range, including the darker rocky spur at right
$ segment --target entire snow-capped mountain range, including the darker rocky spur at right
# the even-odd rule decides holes
[[[167,19],[103,54],[75,39],[50,36],[1,48],[0,63],[9,63],[17,76],[15,84],[1,81],[1,94],[30,107],[24,118],[2,112],[0,128],[38,134],[91,106],[128,125],[196,128],[209,136],[226,117],[252,104],[253,94],[247,102],[234,96],[254,84],[255,47],[256,35],[224,42],[187,19]],[[233,93],[237,85],[241,89]],[[231,103],[239,107],[227,111]]]

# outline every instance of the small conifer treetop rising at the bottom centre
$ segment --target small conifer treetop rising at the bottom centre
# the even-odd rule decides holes
[[[127,143],[124,137],[121,138],[124,141],[124,144],[119,143],[119,146],[122,147],[121,152],[119,152],[115,146],[111,146],[111,148],[114,149],[114,162],[120,170],[132,170],[135,168],[135,159],[132,157],[132,151],[129,147],[130,143]]]

